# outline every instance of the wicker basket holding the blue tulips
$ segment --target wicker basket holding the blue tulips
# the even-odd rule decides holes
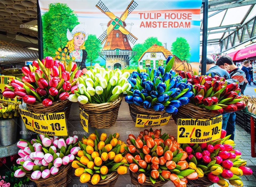
[[[135,104],[129,104],[129,110],[130,110],[130,115],[134,122],[136,121],[137,114],[158,116],[166,113],[165,110],[155,111],[154,109],[145,109],[141,105],[135,105]]]

